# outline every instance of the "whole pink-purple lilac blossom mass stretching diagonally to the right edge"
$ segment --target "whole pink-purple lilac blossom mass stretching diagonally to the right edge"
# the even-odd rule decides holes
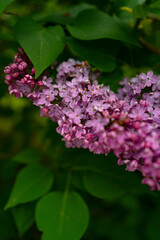
[[[67,147],[105,155],[113,151],[118,164],[126,164],[128,171],[141,171],[143,183],[160,190],[158,77],[150,71],[125,79],[115,94],[98,84],[88,62],[69,59],[61,63],[53,82],[47,76],[34,79],[34,69],[24,59],[21,50],[15,65],[4,70],[10,94],[26,96],[40,107],[41,116],[56,121]]]

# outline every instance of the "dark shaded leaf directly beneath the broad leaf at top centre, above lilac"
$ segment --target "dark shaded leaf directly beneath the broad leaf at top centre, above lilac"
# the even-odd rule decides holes
[[[100,71],[111,72],[116,68],[116,62],[109,51],[113,45],[109,45],[107,39],[105,41],[80,41],[69,38],[67,43],[73,53],[83,60],[87,60]]]

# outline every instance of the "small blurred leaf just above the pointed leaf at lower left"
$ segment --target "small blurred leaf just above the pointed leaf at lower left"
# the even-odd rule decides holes
[[[13,160],[20,163],[32,164],[40,161],[41,158],[42,155],[38,149],[34,147],[28,147],[24,149],[22,152],[16,154],[13,157]]]

